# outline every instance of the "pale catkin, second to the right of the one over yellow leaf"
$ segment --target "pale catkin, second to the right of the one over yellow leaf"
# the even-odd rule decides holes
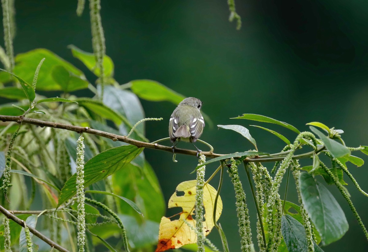
[[[263,191],[268,191],[268,188],[265,187],[265,179],[262,178],[262,173],[260,172],[259,166],[255,163],[248,163],[248,166],[251,168],[253,174],[253,180],[255,183],[256,188],[256,200],[259,206],[259,212],[261,216],[263,216],[263,204],[264,204],[264,195]],[[258,247],[259,251],[263,252],[266,251],[265,244],[263,243],[263,236],[262,236],[262,228],[261,228],[261,220],[257,215],[257,240],[258,240]]]

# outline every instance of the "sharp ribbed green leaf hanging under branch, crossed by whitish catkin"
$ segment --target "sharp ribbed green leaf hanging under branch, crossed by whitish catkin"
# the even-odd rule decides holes
[[[84,187],[92,185],[120,170],[137,157],[142,150],[143,148],[137,148],[133,145],[124,145],[95,155],[84,165]],[[77,175],[74,174],[64,184],[59,195],[57,207],[75,195],[76,179]]]

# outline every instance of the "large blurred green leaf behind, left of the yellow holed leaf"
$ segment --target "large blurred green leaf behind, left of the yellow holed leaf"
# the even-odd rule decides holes
[[[161,220],[166,209],[165,201],[156,174],[148,162],[141,169],[129,164],[113,174],[112,180],[115,194],[134,201],[146,219]],[[121,213],[135,214],[127,204],[119,205]]]

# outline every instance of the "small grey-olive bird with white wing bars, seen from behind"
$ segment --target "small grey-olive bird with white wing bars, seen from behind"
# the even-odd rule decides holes
[[[170,116],[169,136],[173,143],[173,152],[176,144],[180,141],[189,141],[197,149],[197,156],[201,150],[194,145],[195,141],[201,136],[205,121],[201,112],[201,100],[188,97],[179,103],[174,112]],[[178,139],[177,142],[176,139]]]

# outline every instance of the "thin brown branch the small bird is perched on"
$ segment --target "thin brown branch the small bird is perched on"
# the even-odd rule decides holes
[[[131,139],[127,136],[120,136],[120,135],[105,132],[105,131],[102,131],[102,130],[91,129],[90,127],[79,127],[79,126],[68,125],[68,124],[64,124],[64,123],[48,122],[48,121],[43,121],[43,120],[38,120],[38,119],[33,119],[33,118],[26,118],[24,116],[0,115],[0,121],[27,123],[27,124],[38,125],[40,127],[53,127],[53,128],[57,128],[57,129],[66,129],[66,130],[71,130],[71,131],[75,131],[75,132],[78,132],[78,133],[88,133],[88,134],[93,134],[93,135],[96,135],[96,136],[106,137],[106,138],[109,138],[113,141],[122,141],[124,143],[135,145],[138,148],[150,148],[150,149],[167,151],[167,152],[170,152],[170,153],[173,152],[173,149],[169,146],[164,146],[164,145],[161,145],[161,144],[158,144],[158,143],[146,143],[146,142],[143,142],[143,141],[138,141],[138,140],[135,140],[135,139]],[[175,148],[175,153],[197,156],[197,151],[188,150],[188,149],[181,149],[181,148]],[[311,156],[313,153],[314,153],[314,151],[311,151],[309,153],[296,155],[293,158],[294,159],[295,158],[305,158],[305,157]],[[221,157],[223,155],[226,155],[226,154],[217,154],[217,153],[213,153],[213,152],[210,152],[210,151],[202,151],[201,154],[203,154],[203,155],[205,155],[206,157],[209,157],[209,158],[216,158],[216,157]],[[245,158],[244,161],[245,162],[275,162],[275,161],[282,161],[283,159],[284,159],[284,157],[262,156],[262,157],[259,157],[259,158]]]

